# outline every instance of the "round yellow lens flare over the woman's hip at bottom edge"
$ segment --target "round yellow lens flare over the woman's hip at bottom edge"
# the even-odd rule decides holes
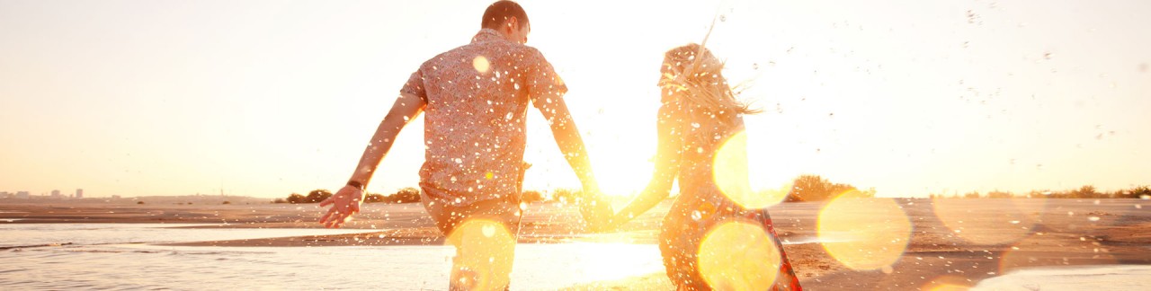
[[[700,275],[716,290],[768,290],[779,274],[779,250],[754,223],[730,221],[700,244]]]

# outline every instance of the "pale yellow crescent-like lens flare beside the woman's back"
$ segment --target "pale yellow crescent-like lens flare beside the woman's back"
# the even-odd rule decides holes
[[[779,189],[753,192],[747,178],[747,133],[740,131],[727,138],[716,152],[711,175],[719,191],[744,208],[759,209],[777,205],[787,197],[791,184]]]

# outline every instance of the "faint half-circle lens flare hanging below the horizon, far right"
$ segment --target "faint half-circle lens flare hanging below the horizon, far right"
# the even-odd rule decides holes
[[[936,217],[955,236],[975,244],[1008,244],[1031,233],[1044,209],[1044,198],[931,200]]]

